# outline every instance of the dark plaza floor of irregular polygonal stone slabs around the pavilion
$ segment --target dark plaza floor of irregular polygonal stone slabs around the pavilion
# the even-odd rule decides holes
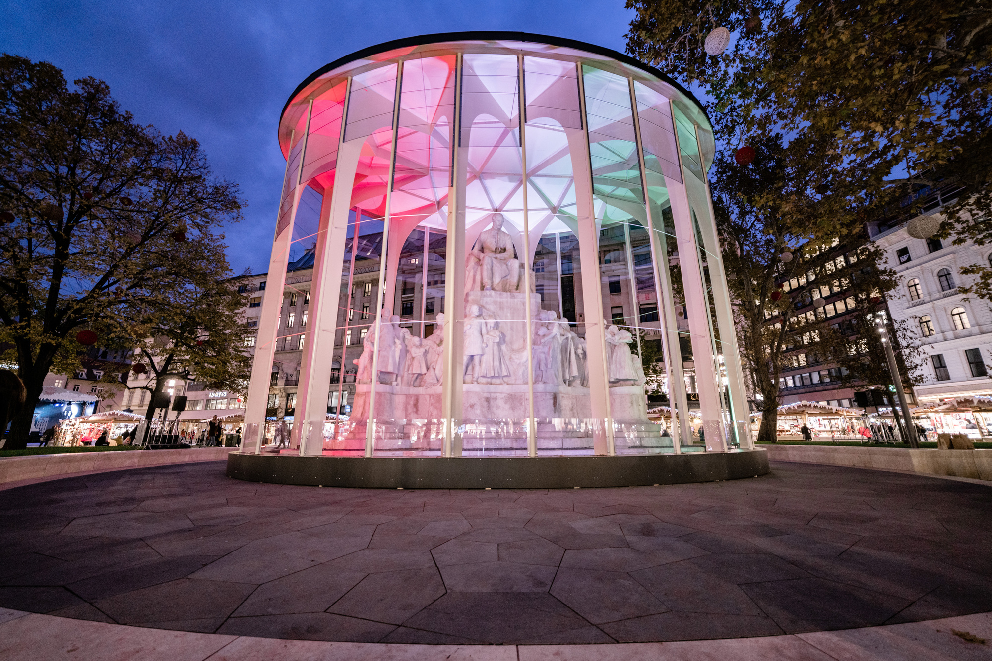
[[[252,484],[209,462],[0,492],[0,606],[313,640],[739,638],[992,610],[992,489],[773,463],[626,489]]]

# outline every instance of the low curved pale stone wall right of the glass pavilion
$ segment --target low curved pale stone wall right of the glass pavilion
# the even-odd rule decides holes
[[[771,461],[906,471],[992,481],[992,450],[935,450],[845,445],[761,445]]]

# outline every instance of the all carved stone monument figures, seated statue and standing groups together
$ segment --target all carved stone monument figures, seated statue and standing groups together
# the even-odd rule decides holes
[[[523,267],[514,257],[513,239],[503,230],[503,222],[503,214],[493,214],[492,227],[479,235],[469,251],[465,265],[465,291],[466,294],[470,291],[515,293],[526,305],[528,295],[523,286]],[[523,365],[526,363],[526,352],[523,359],[519,355],[509,355],[506,333],[500,328],[500,320],[479,304],[469,304],[465,312],[464,383],[527,383],[527,368]],[[400,326],[399,316],[389,316],[383,310],[379,324],[380,339],[376,339],[374,330],[368,333],[363,341],[362,355],[354,361],[358,366],[358,383],[370,384],[374,369],[378,372],[380,384],[408,387],[439,385],[444,315],[438,314],[435,323],[438,330],[431,337],[422,339]],[[516,342],[511,344],[518,347],[522,344],[520,338],[512,339]],[[644,383],[640,361],[636,361],[630,351],[633,341],[630,332],[615,325],[609,326],[605,339],[610,385]],[[589,385],[585,340],[572,332],[567,320],[558,319],[554,311],[541,310],[532,319],[531,348],[535,384]]]

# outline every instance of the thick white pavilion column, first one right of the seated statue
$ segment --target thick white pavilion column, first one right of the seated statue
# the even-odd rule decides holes
[[[606,329],[603,327],[603,287],[599,278],[599,232],[592,195],[592,159],[589,156],[589,123],[585,115],[585,85],[582,64],[578,69],[578,105],[582,128],[565,130],[571,173],[575,184],[575,221],[578,227],[578,258],[582,275],[582,306],[585,308],[586,369],[589,371],[589,402],[593,428],[593,452],[616,455],[613,416],[610,411],[609,366],[606,362]],[[590,304],[591,303],[591,304]],[[598,426],[602,420],[603,427]]]

